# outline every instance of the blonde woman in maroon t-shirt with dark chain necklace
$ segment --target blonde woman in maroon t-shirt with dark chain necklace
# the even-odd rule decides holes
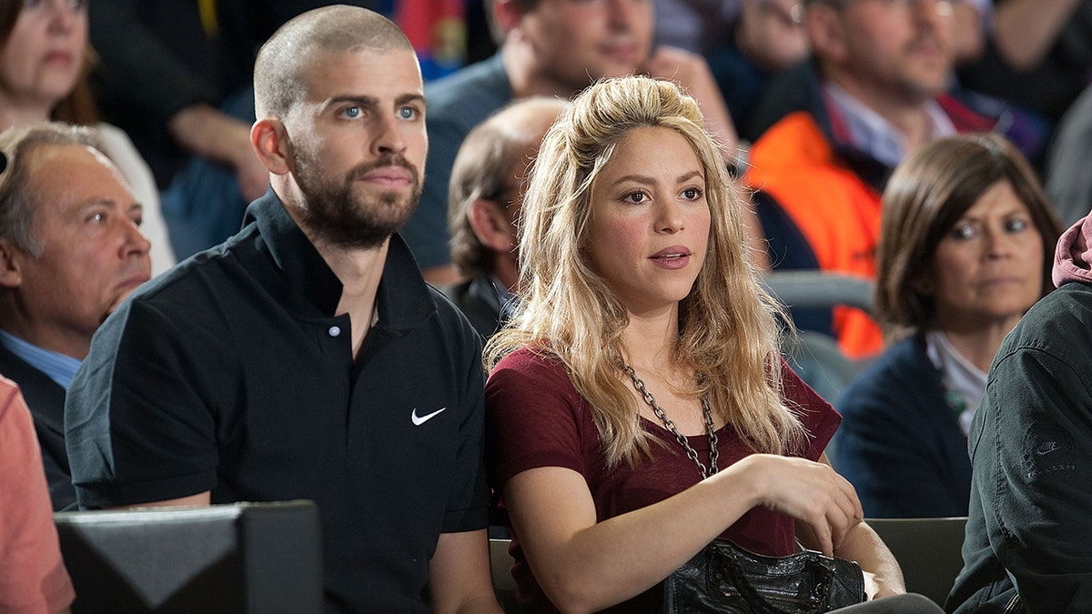
[[[521,220],[521,302],[492,338],[490,469],[525,611],[656,607],[717,536],[859,562],[903,592],[823,447],[840,417],[778,353],[744,206],[692,98],[593,85],[543,141]],[[898,600],[897,600],[898,601]]]

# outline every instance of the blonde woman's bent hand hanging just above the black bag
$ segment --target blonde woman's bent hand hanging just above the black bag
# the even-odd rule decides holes
[[[853,485],[829,464],[795,457],[751,454],[724,473],[741,472],[757,488],[758,505],[790,516],[805,527],[797,533],[805,545],[827,556],[864,518]]]

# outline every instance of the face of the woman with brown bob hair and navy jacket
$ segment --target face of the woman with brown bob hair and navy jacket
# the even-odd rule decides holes
[[[1043,237],[1008,180],[990,186],[937,245],[931,275],[941,330],[1011,328],[1043,291]]]

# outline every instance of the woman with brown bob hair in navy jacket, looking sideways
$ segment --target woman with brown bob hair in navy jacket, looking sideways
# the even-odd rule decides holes
[[[971,418],[1001,340],[1052,287],[1059,233],[1001,137],[940,139],[895,168],[876,282],[890,345],[842,394],[833,447],[867,516],[966,516]]]

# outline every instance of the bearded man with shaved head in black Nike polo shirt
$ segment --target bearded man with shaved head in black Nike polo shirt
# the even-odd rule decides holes
[[[110,317],[73,382],[80,504],[312,499],[328,611],[499,612],[480,342],[396,234],[427,147],[413,48],[317,9],[262,47],[254,90],[270,190]]]

